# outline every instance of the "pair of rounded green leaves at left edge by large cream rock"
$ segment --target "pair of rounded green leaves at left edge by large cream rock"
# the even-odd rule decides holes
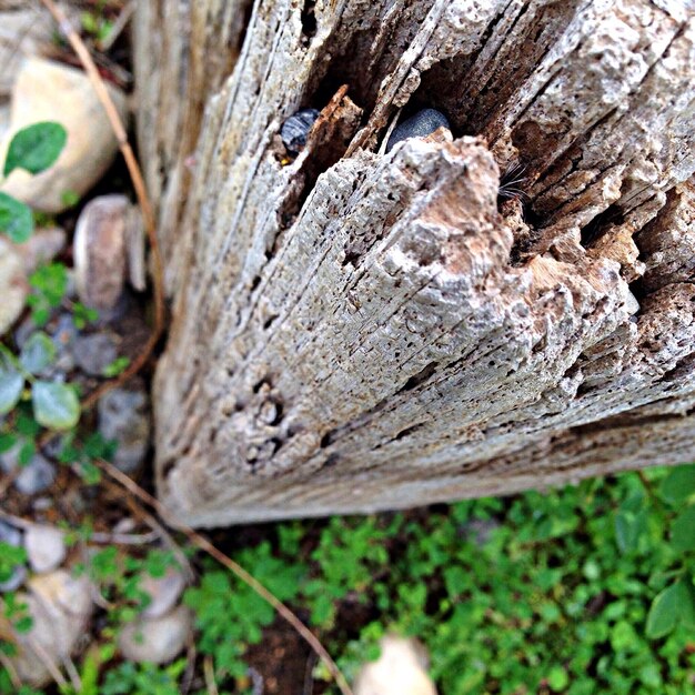
[[[44,121],[18,131],[8,148],[2,175],[16,169],[37,174],[52,167],[68,141],[60,123]],[[14,243],[26,242],[33,232],[33,215],[22,202],[0,192],[0,232]]]

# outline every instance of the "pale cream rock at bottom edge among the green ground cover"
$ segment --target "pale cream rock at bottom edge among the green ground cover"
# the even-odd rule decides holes
[[[436,695],[427,675],[423,647],[393,635],[381,641],[381,656],[362,667],[355,695]]]

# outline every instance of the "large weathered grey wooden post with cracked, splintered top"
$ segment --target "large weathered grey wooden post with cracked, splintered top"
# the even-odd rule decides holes
[[[139,137],[173,308],[158,485],[182,522],[693,457],[687,7],[141,0]],[[294,158],[280,128],[305,107],[321,115]],[[425,107],[453,140],[384,154]],[[522,179],[506,200],[501,172]]]

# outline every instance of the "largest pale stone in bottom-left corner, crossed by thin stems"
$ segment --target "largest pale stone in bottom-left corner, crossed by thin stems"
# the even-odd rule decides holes
[[[87,577],[74,578],[58,570],[32,577],[29,590],[19,598],[28,605],[33,623],[28,633],[14,635],[19,651],[11,661],[21,681],[41,687],[52,681],[47,658],[60,667],[87,631],[92,613],[90,584]]]

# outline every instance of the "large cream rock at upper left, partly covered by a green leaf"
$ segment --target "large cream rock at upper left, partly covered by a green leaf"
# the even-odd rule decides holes
[[[122,119],[124,94],[110,85]],[[40,58],[27,58],[12,89],[11,125],[0,145],[0,161],[14,132],[38,121],[58,121],[68,131],[68,142],[58,161],[47,171],[30,175],[13,171],[0,190],[44,212],[61,212],[66,193],[82,197],[107,171],[118,142],[97,94],[81,70]]]

